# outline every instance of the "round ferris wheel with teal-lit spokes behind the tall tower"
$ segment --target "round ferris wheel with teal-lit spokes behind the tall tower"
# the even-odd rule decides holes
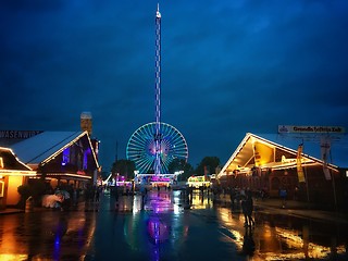
[[[160,137],[156,139],[156,122],[139,127],[130,136],[126,157],[135,162],[141,174],[152,173],[156,160],[156,141],[160,141],[161,173],[169,173],[169,165],[175,159],[187,162],[188,149],[184,136],[172,125],[160,123]]]

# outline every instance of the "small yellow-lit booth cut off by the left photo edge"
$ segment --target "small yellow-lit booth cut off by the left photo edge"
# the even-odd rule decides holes
[[[15,206],[21,198],[17,187],[35,176],[36,172],[21,162],[11,149],[0,147],[0,209]]]

